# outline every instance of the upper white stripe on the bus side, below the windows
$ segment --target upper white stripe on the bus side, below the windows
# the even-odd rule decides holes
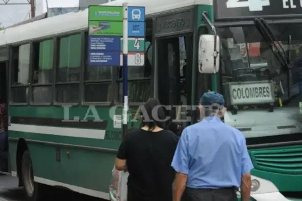
[[[101,140],[105,139],[105,132],[106,132],[106,130],[97,130],[97,129],[37,126],[37,125],[28,125],[28,124],[11,124],[8,128],[9,131],[20,131],[20,132],[69,136],[69,137],[78,137],[78,138],[92,138],[92,139],[101,139]]]

